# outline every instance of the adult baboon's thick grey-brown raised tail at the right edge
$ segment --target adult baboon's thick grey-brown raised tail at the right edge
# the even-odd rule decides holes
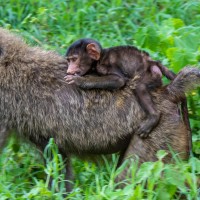
[[[185,97],[185,93],[200,86],[200,69],[197,67],[185,67],[176,78],[167,86],[168,94],[174,102],[179,102]]]

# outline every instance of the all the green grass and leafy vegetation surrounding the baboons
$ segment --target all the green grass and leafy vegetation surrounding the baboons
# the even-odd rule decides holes
[[[200,1],[196,0],[0,0],[0,26],[22,35],[31,45],[64,54],[82,37],[99,40],[104,47],[130,44],[147,50],[178,72],[200,60]],[[67,199],[198,199],[200,196],[200,89],[188,95],[194,156],[183,162],[132,163],[126,187],[116,189],[117,157],[103,165],[74,159],[75,188]],[[0,157],[0,200],[63,199],[62,158],[53,140],[41,157],[13,137]],[[47,155],[52,155],[47,156]],[[126,165],[127,163],[124,163]],[[48,188],[49,177],[53,177]],[[128,184],[128,181],[131,183]]]

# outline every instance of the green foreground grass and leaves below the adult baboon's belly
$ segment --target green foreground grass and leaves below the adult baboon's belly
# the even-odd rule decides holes
[[[198,199],[197,183],[200,160],[191,157],[181,161],[174,155],[173,164],[164,164],[164,151],[157,153],[158,161],[146,162],[138,167],[136,160],[127,160],[116,169],[118,157],[102,157],[101,165],[73,159],[75,182],[73,191],[66,199]],[[13,137],[1,156],[0,193],[4,199],[63,199],[63,161],[57,146],[51,139],[44,151],[46,165],[28,145],[19,146]],[[129,176],[119,189],[116,176],[129,165]],[[50,184],[50,177],[53,181]]]

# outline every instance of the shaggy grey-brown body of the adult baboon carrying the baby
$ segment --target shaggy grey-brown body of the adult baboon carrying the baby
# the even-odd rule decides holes
[[[124,151],[130,141],[125,156],[133,153],[141,162],[155,160],[156,151],[167,150],[168,145],[187,158],[188,134],[177,107],[180,91],[185,92],[185,87],[175,83],[192,85],[199,80],[197,69],[191,69],[188,78],[178,76],[168,87],[152,93],[161,120],[151,137],[142,140],[134,135],[134,130],[144,113],[129,86],[109,92],[82,91],[68,85],[63,79],[63,57],[29,47],[2,28],[0,49],[1,146],[9,130],[15,129],[16,134],[41,149],[53,137],[68,161],[71,154],[90,156]]]

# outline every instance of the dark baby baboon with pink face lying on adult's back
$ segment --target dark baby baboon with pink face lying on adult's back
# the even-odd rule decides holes
[[[156,110],[149,91],[162,85],[162,74],[173,80],[176,77],[173,72],[160,62],[153,61],[147,52],[134,46],[104,49],[99,42],[88,38],[77,40],[70,45],[66,57],[66,81],[83,89],[119,89],[124,87],[128,80],[138,76],[134,92],[146,112],[146,120],[140,124],[137,133],[145,138],[156,127],[160,113]],[[100,76],[81,81],[80,76],[93,68]]]

